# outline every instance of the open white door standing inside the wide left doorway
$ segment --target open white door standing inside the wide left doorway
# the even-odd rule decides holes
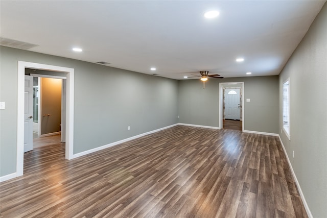
[[[33,150],[33,77],[25,76],[24,152]]]

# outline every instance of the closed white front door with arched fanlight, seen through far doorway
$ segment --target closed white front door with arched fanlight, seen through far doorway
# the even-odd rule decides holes
[[[240,89],[225,89],[225,119],[240,118]]]

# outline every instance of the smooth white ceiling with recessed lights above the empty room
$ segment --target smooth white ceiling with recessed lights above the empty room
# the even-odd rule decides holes
[[[279,74],[324,3],[2,0],[0,27],[3,38],[38,45],[30,51],[144,74],[266,76]],[[220,15],[205,19],[213,9]]]

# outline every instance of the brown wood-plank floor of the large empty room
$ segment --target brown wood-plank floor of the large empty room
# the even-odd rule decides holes
[[[25,154],[1,217],[308,217],[277,137],[176,126],[73,160]]]

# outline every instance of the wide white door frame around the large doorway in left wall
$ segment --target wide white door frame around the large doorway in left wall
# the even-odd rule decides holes
[[[73,159],[74,154],[74,68],[18,61],[17,70],[17,159],[16,176],[22,176],[24,171],[24,80],[25,68],[65,72],[67,78],[66,90],[66,152],[65,158]]]

